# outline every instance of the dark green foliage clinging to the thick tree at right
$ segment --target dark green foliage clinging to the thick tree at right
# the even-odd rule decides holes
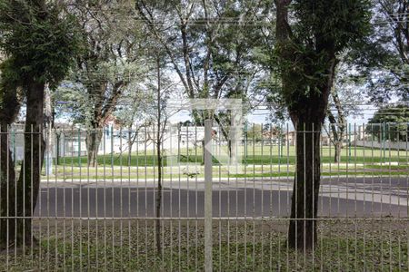
[[[297,0],[289,10],[289,40],[276,44],[272,66],[286,78],[282,95],[291,107],[333,81],[331,63],[369,33],[371,14],[367,0]]]

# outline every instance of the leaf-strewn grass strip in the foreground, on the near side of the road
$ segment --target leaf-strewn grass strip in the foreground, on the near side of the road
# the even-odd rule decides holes
[[[162,252],[152,221],[42,221],[31,252],[11,248],[0,270],[196,271],[204,267],[204,228],[199,221],[164,221]],[[398,220],[319,222],[312,252],[286,246],[287,220],[214,222],[214,271],[407,271],[408,226]],[[48,235],[47,235],[48,234]]]

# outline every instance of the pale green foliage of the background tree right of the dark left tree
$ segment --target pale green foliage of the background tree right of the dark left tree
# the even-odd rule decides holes
[[[75,68],[57,92],[55,111],[75,123],[102,126],[106,118],[132,104],[137,83],[151,68],[141,64],[142,38],[127,1],[80,1],[70,8],[81,26],[83,46]],[[126,97],[126,100],[125,100]],[[134,105],[133,105],[134,106]]]

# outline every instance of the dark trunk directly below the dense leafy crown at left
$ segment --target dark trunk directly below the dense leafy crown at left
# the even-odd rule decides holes
[[[16,243],[29,245],[32,241],[32,217],[40,189],[40,174],[44,162],[45,141],[42,131],[44,121],[44,83],[30,83],[27,87],[27,113],[25,116],[25,157],[17,182]]]

